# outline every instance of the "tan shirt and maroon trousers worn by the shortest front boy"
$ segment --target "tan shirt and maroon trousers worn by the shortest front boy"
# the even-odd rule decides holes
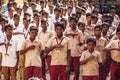
[[[99,80],[100,53],[97,50],[94,50],[92,53],[86,50],[82,53],[80,61],[85,60],[90,55],[93,55],[95,58],[82,65],[82,80]]]

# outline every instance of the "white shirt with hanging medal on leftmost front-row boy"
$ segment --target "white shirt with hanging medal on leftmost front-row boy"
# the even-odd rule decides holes
[[[17,40],[12,37],[10,41],[7,40],[6,36],[0,38],[0,43],[2,42],[9,42],[11,45],[8,47],[8,50],[6,51],[5,45],[0,46],[0,52],[2,53],[2,66],[7,67],[15,67],[17,63],[17,55],[16,51],[17,48]],[[6,56],[6,53],[8,56]]]

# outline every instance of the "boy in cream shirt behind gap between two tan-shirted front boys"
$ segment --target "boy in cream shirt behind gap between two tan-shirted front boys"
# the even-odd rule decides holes
[[[53,36],[53,33],[47,29],[48,23],[46,20],[42,19],[41,20],[41,27],[42,30],[38,33],[38,40],[41,42],[43,49],[45,49],[45,45],[47,44],[48,40]],[[50,68],[50,62],[51,62],[51,56],[48,55],[46,58],[47,61],[47,66],[48,69]],[[45,59],[42,60],[42,70],[43,70],[43,75],[46,76],[45,74]]]

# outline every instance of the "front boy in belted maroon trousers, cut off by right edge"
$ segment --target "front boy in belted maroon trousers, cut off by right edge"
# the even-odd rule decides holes
[[[112,40],[104,49],[104,51],[111,51],[110,80],[120,79],[120,26],[116,29],[116,35],[118,39]]]

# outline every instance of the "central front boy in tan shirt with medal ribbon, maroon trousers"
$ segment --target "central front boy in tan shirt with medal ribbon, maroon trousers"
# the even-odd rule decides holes
[[[64,26],[55,24],[56,36],[52,37],[45,49],[45,53],[51,52],[50,80],[68,80],[70,70],[70,45],[69,39],[63,35]]]

